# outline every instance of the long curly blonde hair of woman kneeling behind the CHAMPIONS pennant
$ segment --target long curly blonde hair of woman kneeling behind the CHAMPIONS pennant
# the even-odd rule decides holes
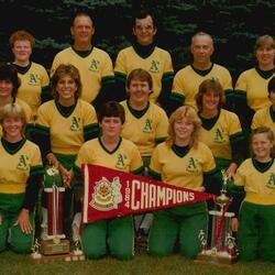
[[[168,139],[166,140],[166,144],[172,146],[176,140],[176,133],[174,130],[174,124],[176,120],[180,120],[186,118],[188,122],[194,124],[194,132],[191,133],[190,146],[197,146],[201,130],[201,121],[196,112],[196,110],[190,106],[182,106],[176,109],[169,118],[169,127],[168,127]]]

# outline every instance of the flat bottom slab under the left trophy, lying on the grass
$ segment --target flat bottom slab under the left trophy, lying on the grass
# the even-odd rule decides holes
[[[59,254],[59,255],[42,255],[40,256],[31,254],[31,262],[36,264],[53,263],[53,262],[77,262],[85,261],[84,254],[76,255],[75,253]]]

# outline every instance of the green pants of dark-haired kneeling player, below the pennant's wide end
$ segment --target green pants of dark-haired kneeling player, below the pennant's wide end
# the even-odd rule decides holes
[[[81,245],[88,258],[99,258],[109,249],[112,256],[130,260],[134,252],[132,216],[84,224]]]

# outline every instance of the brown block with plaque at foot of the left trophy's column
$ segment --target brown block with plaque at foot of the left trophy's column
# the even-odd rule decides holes
[[[68,254],[70,252],[69,241],[58,239],[55,240],[41,241],[40,253],[42,255],[58,255]]]

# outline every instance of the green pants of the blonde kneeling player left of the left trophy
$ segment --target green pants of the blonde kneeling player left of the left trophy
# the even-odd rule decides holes
[[[30,213],[30,222],[33,231],[25,234],[19,224],[14,226],[21,211],[24,194],[0,194],[0,252],[7,249],[7,239],[10,233],[10,248],[16,253],[28,254],[31,252],[34,238],[34,218]]]

